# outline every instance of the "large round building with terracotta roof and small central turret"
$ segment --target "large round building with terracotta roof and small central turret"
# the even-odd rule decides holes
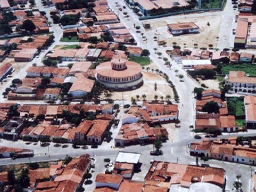
[[[114,90],[135,89],[143,84],[141,65],[125,59],[113,59],[96,68],[97,80]]]

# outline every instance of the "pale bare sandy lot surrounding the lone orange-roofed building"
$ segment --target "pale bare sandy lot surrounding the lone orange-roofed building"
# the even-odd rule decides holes
[[[180,47],[194,47],[194,44],[197,44],[197,47],[209,47],[209,44],[212,44],[213,47],[217,45],[217,36],[220,31],[221,25],[221,15],[214,15],[209,17],[196,17],[196,18],[182,18],[182,19],[172,19],[172,17],[163,18],[161,22],[149,21],[153,29],[151,33],[154,35],[155,31],[160,33],[159,40],[165,40],[167,46],[172,47],[173,42],[177,43]],[[195,22],[200,28],[200,33],[196,34],[187,34],[180,36],[173,36],[167,29],[167,24],[178,23],[178,22]],[[209,22],[209,26],[207,26]],[[157,37],[157,38],[158,38]]]

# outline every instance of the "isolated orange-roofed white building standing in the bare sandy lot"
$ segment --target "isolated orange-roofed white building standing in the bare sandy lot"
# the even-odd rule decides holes
[[[186,33],[199,33],[199,27],[194,22],[180,22],[168,24],[168,30],[172,35],[181,35]]]

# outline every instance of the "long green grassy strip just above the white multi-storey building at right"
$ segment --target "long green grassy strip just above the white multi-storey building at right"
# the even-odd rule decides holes
[[[256,76],[256,65],[252,65],[250,63],[243,63],[243,64],[223,64],[222,67],[222,73],[228,74],[230,70],[242,70],[246,74],[249,74],[249,76]]]

